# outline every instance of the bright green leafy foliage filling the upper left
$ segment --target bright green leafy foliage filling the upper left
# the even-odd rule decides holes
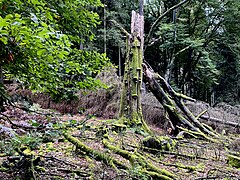
[[[4,73],[56,99],[69,99],[80,88],[101,86],[94,77],[108,59],[78,50],[94,39],[99,23],[91,9],[100,0],[0,2],[0,65]]]

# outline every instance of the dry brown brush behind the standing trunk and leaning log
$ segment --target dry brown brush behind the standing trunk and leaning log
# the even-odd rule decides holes
[[[96,91],[80,91],[78,93],[78,100],[70,102],[62,101],[56,103],[52,99],[43,93],[33,94],[30,90],[16,90],[16,85],[9,88],[11,95],[20,94],[22,97],[38,103],[42,108],[56,109],[61,113],[84,115],[95,115],[103,117],[105,119],[117,118],[119,111],[119,100],[121,91],[121,78],[118,77],[114,69],[109,69],[100,73],[97,76],[103,83],[109,86],[108,89],[98,89]],[[161,104],[152,95],[152,93],[142,93],[143,115],[145,120],[151,124],[160,128],[168,128],[165,112]],[[210,107],[209,104],[197,101],[196,103],[187,102],[186,105],[193,112],[198,115],[202,111],[208,109],[205,114],[208,117],[214,117],[221,119],[223,122],[231,121],[240,123],[240,107],[230,106],[225,103],[220,103],[216,107]],[[219,123],[207,121],[212,127],[221,132],[225,126]],[[239,131],[239,128],[232,129],[235,132]]]

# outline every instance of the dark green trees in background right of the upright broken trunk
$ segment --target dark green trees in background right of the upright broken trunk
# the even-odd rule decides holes
[[[147,1],[145,24],[151,26],[173,5]],[[217,92],[221,101],[239,101],[238,9],[236,0],[190,1],[158,24],[145,58],[166,80],[194,98],[210,101]]]

